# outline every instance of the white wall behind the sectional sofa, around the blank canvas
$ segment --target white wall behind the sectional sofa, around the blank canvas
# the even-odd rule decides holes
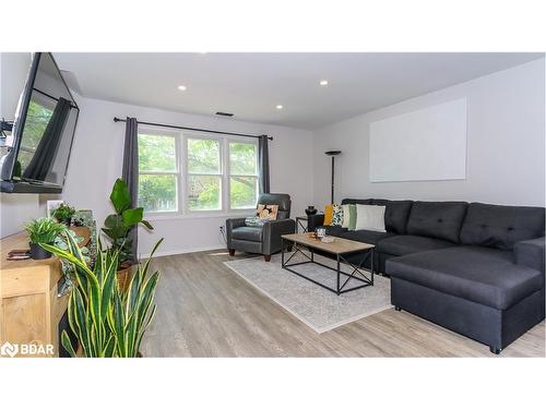
[[[507,205],[545,204],[544,59],[378,109],[318,130],[313,202],[330,201],[330,158],[336,157],[336,202],[343,197],[462,200]],[[369,181],[369,124],[466,97],[466,180]]]

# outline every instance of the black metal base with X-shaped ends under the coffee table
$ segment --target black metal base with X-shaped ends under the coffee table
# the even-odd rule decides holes
[[[284,249],[285,249],[285,239],[283,238],[283,245],[282,245],[282,254],[281,254],[281,260],[282,260],[282,267],[284,269],[287,269],[288,272],[301,277],[301,278],[305,278],[311,282],[314,282],[316,285],[322,287],[322,288],[325,288],[327,290],[329,291],[332,291],[334,293],[336,293],[337,296],[342,294],[342,293],[345,293],[345,292],[349,292],[349,291],[354,291],[354,290],[358,290],[360,288],[365,288],[365,287],[369,287],[369,286],[373,286],[373,248],[371,249],[368,249],[368,250],[365,250],[364,251],[364,255],[363,255],[363,258],[360,260],[360,262],[358,263],[358,265],[355,265],[353,263],[351,263],[347,258],[345,258],[344,255],[347,255],[347,254],[351,254],[351,253],[354,253],[354,252],[347,252],[347,253],[343,253],[343,254],[340,254],[340,253],[336,253],[336,268],[334,267],[331,267],[327,264],[323,264],[323,263],[320,263],[320,262],[317,262],[314,260],[314,249],[313,248],[307,248],[305,245],[301,245],[299,243],[296,243],[296,242],[292,242],[289,241],[289,243],[293,245],[293,249],[294,249],[294,253],[285,261],[285,255],[284,255]],[[305,253],[304,250],[307,250],[309,254]],[[361,250],[359,250],[361,251]],[[355,252],[359,252],[359,251],[355,251]],[[290,262],[290,260],[296,255],[296,254],[302,254],[307,261],[305,262],[297,262],[297,263],[292,263],[292,264],[288,264]],[[367,268],[364,268],[363,265],[364,263],[366,263],[366,261],[370,258],[370,269],[367,269]],[[345,273],[345,272],[342,272],[341,270],[341,263],[345,263],[347,264],[348,266],[351,266],[353,268],[353,272],[349,274],[349,273]],[[336,273],[337,277],[336,277],[336,286],[335,288],[333,287],[329,287],[322,282],[319,282],[301,273],[298,273],[296,272],[295,269],[290,268],[290,267],[294,267],[294,266],[298,266],[298,265],[304,265],[304,264],[318,264],[324,268],[329,268],[333,272]],[[365,275],[365,272],[369,273],[370,276],[367,277]],[[342,284],[342,276],[344,277],[347,277],[345,279],[345,281]],[[356,287],[351,287],[351,288],[347,288],[345,289],[345,286],[347,285],[347,282],[351,280],[351,279],[355,279],[357,281],[360,281],[360,282],[364,282],[363,285],[359,285],[359,286],[356,286]]]

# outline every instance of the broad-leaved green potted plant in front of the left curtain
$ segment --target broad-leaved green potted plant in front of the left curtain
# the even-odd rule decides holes
[[[114,183],[110,202],[116,213],[106,217],[103,231],[110,239],[112,251],[118,252],[118,279],[121,287],[127,288],[131,276],[131,266],[136,262],[131,254],[132,240],[129,233],[139,224],[150,230],[153,230],[153,227],[144,220],[142,207],[131,208],[131,195],[122,179],[117,179]]]

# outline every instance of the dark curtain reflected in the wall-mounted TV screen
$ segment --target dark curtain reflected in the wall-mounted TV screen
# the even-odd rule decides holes
[[[59,98],[54,113],[47,123],[44,135],[39,140],[36,152],[31,163],[23,172],[24,179],[46,180],[47,175],[54,166],[62,132],[70,113],[71,103],[68,99]]]

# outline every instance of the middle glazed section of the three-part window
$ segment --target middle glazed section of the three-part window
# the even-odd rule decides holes
[[[218,140],[188,139],[188,209],[222,209],[222,163]]]

